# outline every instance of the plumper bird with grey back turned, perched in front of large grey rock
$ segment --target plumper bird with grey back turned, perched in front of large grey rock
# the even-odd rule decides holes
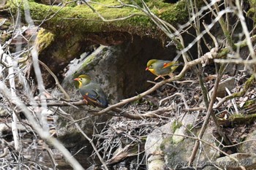
[[[91,81],[91,77],[82,74],[74,80],[78,81],[79,92],[83,96],[83,101],[85,101],[86,104],[90,104],[94,107],[108,107],[107,96],[99,84]]]

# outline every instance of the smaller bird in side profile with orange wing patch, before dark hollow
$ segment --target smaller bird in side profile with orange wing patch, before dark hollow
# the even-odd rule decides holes
[[[151,59],[147,63],[146,70],[149,72],[155,74],[157,77],[154,80],[159,79],[159,77],[162,77],[162,79],[165,79],[164,76],[173,76],[173,72],[180,66],[181,63],[178,61],[164,61],[164,60],[157,60],[157,59]]]

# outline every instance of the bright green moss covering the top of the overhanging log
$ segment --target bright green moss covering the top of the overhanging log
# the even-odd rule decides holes
[[[108,6],[117,6],[118,1],[96,1]],[[126,2],[126,1],[124,1]],[[127,1],[128,2],[128,1]],[[168,4],[162,1],[148,1],[148,7],[152,12],[158,15],[163,20],[170,24],[184,23],[187,21],[188,12],[186,9],[186,1],[180,1],[177,4]],[[92,4],[91,6],[97,10],[104,18],[113,20],[116,18],[124,18],[132,14],[138,16],[129,18],[127,20],[118,20],[115,22],[103,22],[96,12],[93,12],[86,4],[75,7],[56,7],[44,4],[37,4],[36,2],[29,2],[29,9],[31,16],[37,24],[42,23],[42,27],[48,28],[54,34],[69,34],[99,31],[126,31],[132,34],[162,36],[161,31],[157,31],[157,26],[149,18],[143,16],[140,9],[132,7],[106,7],[99,4]],[[17,8],[10,3],[11,9]],[[23,7],[23,6],[20,6]],[[23,11],[23,9],[21,10]],[[46,18],[46,20],[45,20]],[[54,27],[53,27],[54,26]]]

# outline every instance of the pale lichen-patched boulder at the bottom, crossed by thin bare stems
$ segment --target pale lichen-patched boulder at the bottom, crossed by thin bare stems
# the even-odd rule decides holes
[[[184,136],[177,137],[172,134],[188,136],[190,134],[189,127],[192,127],[192,123],[196,120],[195,117],[195,115],[185,115],[184,120],[181,121],[180,125],[173,120],[148,135],[145,144],[148,170],[165,168],[175,169],[178,166],[187,166],[189,157],[195,145],[195,139],[186,138]],[[213,129],[213,127],[208,126],[203,136],[203,140],[211,144],[214,144],[214,139],[212,137]],[[192,133],[198,134],[199,131],[200,129],[193,129]],[[197,157],[195,158],[195,161],[200,161],[198,166],[203,166],[203,163],[208,163],[208,158],[216,160],[217,157],[219,157],[219,152],[207,144],[202,142],[200,146],[202,147],[201,150],[203,150],[203,152],[200,152],[199,149],[197,151]],[[156,165],[158,165],[157,168]]]

